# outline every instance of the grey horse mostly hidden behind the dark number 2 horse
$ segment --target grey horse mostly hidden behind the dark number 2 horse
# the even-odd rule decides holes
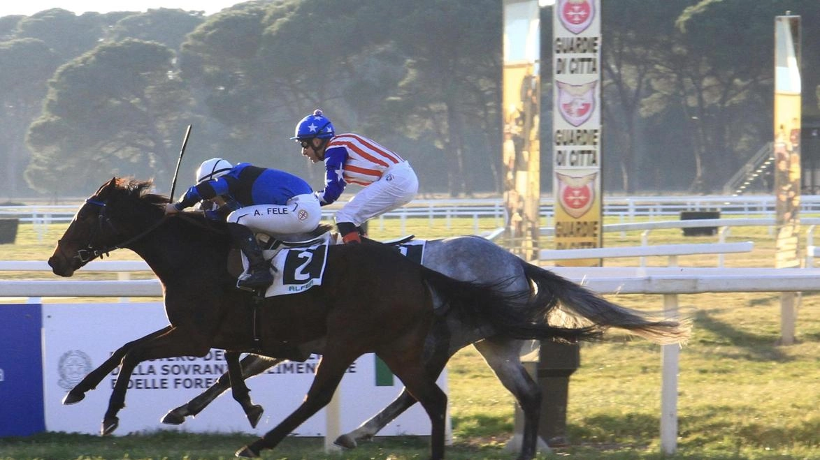
[[[686,325],[658,321],[646,313],[613,304],[575,282],[519,259],[485,238],[467,236],[426,241],[422,264],[462,281],[498,284],[499,280],[508,280],[503,283],[503,289],[508,293],[530,291],[529,300],[559,303],[557,310],[562,314],[556,318],[544,318],[544,321],[560,322],[561,326],[595,327],[601,331],[616,327],[660,344],[678,343],[688,337]],[[517,308],[517,302],[509,302],[508,308]],[[522,408],[524,427],[518,460],[530,460],[535,457],[538,443],[541,391],[522,365],[523,344],[524,340],[496,335],[492,324],[476,325],[456,315],[445,314],[437,320],[427,338],[426,365],[430,372],[438,375],[453,354],[467,345],[474,345]],[[242,360],[243,377],[253,377],[284,360],[248,354]],[[185,422],[185,417],[195,416],[229,388],[230,378],[225,373],[201,395],[168,412],[162,422],[172,425]],[[412,395],[403,390],[380,413],[357,429],[339,436],[335,444],[355,448],[358,441],[371,439],[415,403]],[[248,418],[255,426],[261,408],[253,415],[255,419],[250,414]]]

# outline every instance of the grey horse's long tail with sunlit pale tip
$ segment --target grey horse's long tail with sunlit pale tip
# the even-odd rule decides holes
[[[565,326],[591,326],[601,332],[617,327],[658,344],[682,343],[689,338],[688,322],[653,318],[648,313],[613,304],[576,282],[523,260],[522,268],[535,286],[535,297],[527,306],[543,310],[539,304],[547,305],[550,320],[559,320]]]

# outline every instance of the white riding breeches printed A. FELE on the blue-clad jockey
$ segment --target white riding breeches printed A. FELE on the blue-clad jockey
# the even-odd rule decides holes
[[[274,235],[311,232],[320,221],[321,205],[312,193],[294,196],[286,205],[245,206],[228,214],[228,222]]]

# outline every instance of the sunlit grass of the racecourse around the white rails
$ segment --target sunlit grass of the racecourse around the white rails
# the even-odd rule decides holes
[[[384,230],[371,224],[371,236],[399,237],[398,221],[385,222]],[[497,226],[495,219],[481,220],[481,230]],[[23,225],[15,245],[0,245],[0,259],[46,259],[62,228],[54,226],[43,241],[38,241],[30,226]],[[473,231],[472,219],[453,219],[449,229],[440,221],[430,228],[427,219],[408,221],[407,227],[407,232],[426,238]],[[734,228],[727,239],[748,240],[754,241],[754,252],[727,255],[727,266],[772,267],[774,244],[768,228]],[[683,237],[680,230],[659,230],[649,236],[649,244],[714,241],[717,237]],[[640,232],[627,233],[626,237],[605,234],[604,246],[636,244],[640,244]],[[551,241],[544,241],[544,247],[549,245]],[[134,258],[127,250],[112,253],[112,259]],[[714,266],[716,259],[681,257],[679,264]],[[612,266],[636,264],[638,259],[607,261]],[[665,264],[665,258],[649,258],[649,265]],[[82,270],[77,276],[81,275]],[[2,276],[34,277],[33,273]],[[38,276],[53,279],[48,273]],[[662,307],[659,295],[609,298],[635,309]],[[567,408],[572,445],[539,458],[820,459],[820,294],[804,293],[800,300],[796,345],[774,345],[780,331],[779,301],[777,293],[681,295],[681,309],[694,312],[695,326],[680,356],[675,455],[663,456],[659,447],[660,349],[613,331],[603,343],[582,345],[581,368],[572,375]],[[448,458],[515,458],[514,453],[503,450],[512,433],[512,396],[471,348],[456,354],[448,369],[453,421]],[[103,414],[99,415],[102,419]],[[127,408],[122,416],[127,417]],[[216,460],[232,458],[234,451],[250,440],[253,436],[175,432],[110,438],[46,433],[0,439],[0,460]],[[277,449],[263,453],[263,458],[410,460],[427,458],[427,452],[423,438],[380,438],[340,454],[325,454],[322,440],[288,438]]]

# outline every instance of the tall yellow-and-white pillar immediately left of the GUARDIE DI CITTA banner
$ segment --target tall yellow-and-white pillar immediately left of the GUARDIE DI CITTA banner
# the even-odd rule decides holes
[[[538,256],[540,235],[540,11],[503,2],[503,189],[513,252]]]

